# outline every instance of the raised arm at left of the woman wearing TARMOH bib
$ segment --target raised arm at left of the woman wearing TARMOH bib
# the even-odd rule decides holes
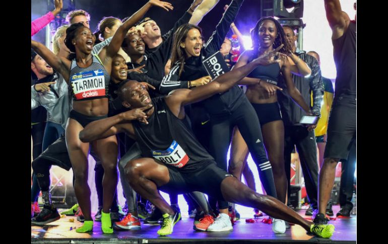
[[[40,42],[31,40],[31,48],[35,50],[53,69],[59,72],[64,80],[69,80],[71,61],[67,58],[58,57],[50,49]]]

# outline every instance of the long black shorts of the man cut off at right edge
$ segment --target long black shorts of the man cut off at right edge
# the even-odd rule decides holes
[[[328,141],[324,157],[347,159],[356,142],[356,96],[339,95],[329,116]]]

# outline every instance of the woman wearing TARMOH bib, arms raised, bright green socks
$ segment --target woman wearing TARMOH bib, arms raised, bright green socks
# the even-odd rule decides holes
[[[77,228],[77,232],[88,232],[93,230],[90,189],[87,182],[87,156],[89,154],[90,144],[81,142],[79,133],[88,123],[107,116],[107,90],[112,59],[118,52],[127,31],[154,5],[162,8],[165,8],[165,6],[171,8],[169,3],[159,1],[147,3],[117,29],[109,45],[104,47],[104,49],[95,56],[91,53],[95,42],[95,36],[89,28],[80,23],[71,25],[67,30],[66,45],[71,51],[75,52],[75,55],[73,54],[69,57],[70,59],[57,57],[43,44],[31,40],[31,48],[42,56],[51,67],[62,74],[65,80],[72,81],[70,87],[74,94],[74,116],[72,116],[71,113],[67,124],[66,143],[76,178],[74,188],[77,200],[85,217],[84,225]],[[72,61],[71,59],[74,59],[75,61]],[[92,65],[96,65],[96,68]],[[92,69],[89,68],[91,66]],[[73,69],[78,69],[78,72],[71,75]],[[87,79],[88,77],[89,79]],[[93,77],[93,79],[90,79],[90,77]],[[98,82],[95,82],[96,80]],[[92,146],[96,148],[95,151],[98,153],[105,170],[101,227],[104,233],[112,233],[113,229],[109,217],[109,208],[117,185],[116,137],[110,136],[105,139],[96,140],[92,143]]]

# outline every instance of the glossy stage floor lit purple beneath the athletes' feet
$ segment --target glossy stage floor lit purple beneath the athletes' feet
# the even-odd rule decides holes
[[[339,206],[333,206],[334,213]],[[305,209],[297,210],[303,217]],[[249,212],[251,215],[252,212]],[[103,234],[101,222],[94,222],[93,233],[77,233],[75,227],[82,225],[74,216],[63,217],[44,226],[31,226],[32,243],[151,243],[151,242],[207,242],[207,243],[243,243],[243,242],[271,242],[271,243],[356,243],[357,217],[351,215],[348,219],[331,220],[336,226],[334,235],[330,239],[318,238],[309,235],[299,225],[293,225],[284,234],[275,234],[272,226],[263,222],[246,223],[247,213],[241,214],[240,221],[236,222],[233,231],[229,232],[198,232],[193,230],[193,219],[183,217],[174,226],[174,232],[166,237],[158,237],[156,231],[159,225],[142,223],[141,230],[123,230],[113,234]],[[244,218],[245,217],[245,218]],[[264,215],[264,217],[268,217]],[[70,222],[74,219],[74,222]],[[261,221],[263,217],[258,220]],[[72,230],[71,230],[72,228]]]

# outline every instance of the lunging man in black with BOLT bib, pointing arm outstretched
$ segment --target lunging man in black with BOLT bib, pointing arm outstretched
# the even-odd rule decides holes
[[[238,179],[217,167],[187,126],[184,106],[226,92],[257,65],[278,62],[277,51],[262,55],[252,62],[220,75],[213,82],[192,90],[178,89],[166,97],[151,100],[145,87],[133,80],[119,92],[124,107],[131,109],[113,117],[88,124],[80,132],[84,142],[126,132],[135,138],[144,158],[135,159],[125,167],[131,186],[147,198],[163,214],[159,235],[172,233],[180,214],[168,205],[158,189],[185,193],[200,191],[228,202],[261,209],[263,212],[299,224],[321,237],[330,237],[334,225],[314,225],[277,199],[258,194]]]

